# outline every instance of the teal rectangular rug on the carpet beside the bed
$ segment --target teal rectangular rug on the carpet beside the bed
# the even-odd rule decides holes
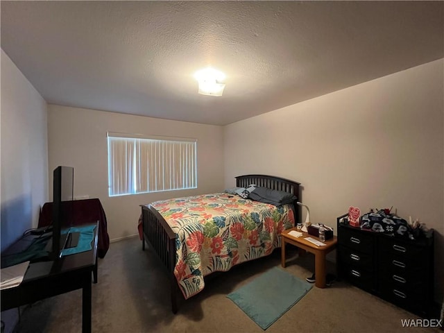
[[[266,330],[310,289],[308,282],[273,267],[227,297]]]

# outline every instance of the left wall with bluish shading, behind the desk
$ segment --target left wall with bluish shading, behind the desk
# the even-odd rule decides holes
[[[1,249],[37,227],[48,199],[46,102],[1,50]]]

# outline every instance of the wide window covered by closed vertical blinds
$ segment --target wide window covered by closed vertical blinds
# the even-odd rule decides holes
[[[196,139],[108,133],[110,196],[195,189]]]

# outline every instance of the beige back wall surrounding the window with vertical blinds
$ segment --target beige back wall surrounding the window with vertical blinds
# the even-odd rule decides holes
[[[107,132],[197,138],[198,188],[108,197]],[[220,126],[49,105],[49,182],[58,165],[74,167],[74,196],[99,198],[110,239],[137,234],[139,205],[164,198],[223,190],[223,129]],[[50,189],[52,200],[52,188]]]

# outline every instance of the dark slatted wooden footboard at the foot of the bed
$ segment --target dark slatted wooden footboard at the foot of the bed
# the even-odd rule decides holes
[[[171,285],[171,309],[173,314],[178,311],[178,283],[174,276],[176,266],[176,234],[171,230],[164,218],[151,205],[142,207],[142,250],[145,243],[150,245],[160,261],[167,268]]]

